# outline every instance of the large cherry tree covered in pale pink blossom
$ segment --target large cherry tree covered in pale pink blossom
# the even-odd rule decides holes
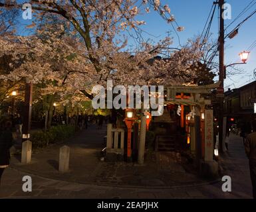
[[[0,56],[11,55],[14,67],[2,80],[26,79],[47,82],[45,92],[83,93],[92,99],[92,86],[105,85],[108,79],[122,85],[192,83],[199,72],[190,70],[201,58],[199,39],[190,40],[165,60],[152,60],[172,44],[164,38],[156,44],[143,40],[140,13],[157,11],[172,26],[176,24],[168,5],[159,0],[70,0],[28,1],[35,13],[31,26],[38,27],[33,36],[0,38]],[[0,1],[3,8],[21,8],[15,1]],[[39,23],[47,15],[55,15],[60,25]],[[177,24],[176,24],[177,25]],[[46,29],[46,28],[47,29]],[[183,30],[177,25],[177,30]],[[134,32],[133,34],[131,32]],[[127,50],[129,37],[138,44]],[[19,64],[19,66],[18,66]]]

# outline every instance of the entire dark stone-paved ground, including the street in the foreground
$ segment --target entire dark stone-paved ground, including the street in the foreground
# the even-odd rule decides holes
[[[72,139],[76,140],[76,142],[69,143],[71,147],[71,170],[66,174],[59,174],[57,171],[57,161],[59,159],[56,150],[59,146],[47,148],[43,151],[44,154],[41,152],[33,154],[33,162],[29,165],[21,165],[19,158],[13,159],[12,166],[7,168],[3,174],[0,197],[129,199],[252,197],[248,162],[245,158],[242,140],[238,136],[232,135],[229,152],[220,161],[223,175],[229,175],[232,178],[232,192],[225,193],[221,190],[222,182],[216,182],[215,184],[207,184],[207,182],[201,182],[201,184],[197,185],[193,183],[188,184],[187,179],[183,178],[187,173],[182,171],[170,171],[170,184],[168,186],[166,184],[163,185],[162,183],[166,183],[166,180],[159,179],[158,176],[151,178],[151,180],[154,179],[153,182],[150,182],[150,179],[148,179],[149,182],[146,184],[154,184],[158,185],[158,187],[139,186],[140,181],[136,182],[136,180],[141,179],[143,176],[140,175],[138,170],[146,172],[147,166],[133,166],[124,163],[119,163],[116,166],[116,164],[100,162],[98,160],[98,151],[102,148],[102,141],[105,134],[106,132],[97,131],[94,128],[88,132],[82,132],[82,134]],[[99,140],[99,137],[102,137],[102,140]],[[84,142],[84,139],[87,142]],[[51,161],[49,161],[49,158],[51,158]],[[86,168],[86,172],[81,172],[81,168]],[[134,171],[132,170],[136,170],[138,175],[134,175]],[[121,173],[122,171],[122,177],[130,172],[126,178],[128,184],[122,183],[125,178],[117,178],[118,172]],[[158,171],[151,170],[150,172]],[[29,193],[22,191],[22,178],[25,175],[31,176],[33,180],[33,191]],[[132,175],[134,175],[133,178]],[[191,177],[190,175],[188,176],[189,178]],[[108,182],[108,184],[100,182],[102,179],[104,182]],[[120,179],[122,184],[120,184]],[[197,180],[197,183],[201,181],[198,178],[195,179],[195,176],[193,176],[193,180]],[[135,183],[132,181],[135,181]],[[183,185],[182,181],[185,182]],[[174,185],[178,186],[175,187]]]

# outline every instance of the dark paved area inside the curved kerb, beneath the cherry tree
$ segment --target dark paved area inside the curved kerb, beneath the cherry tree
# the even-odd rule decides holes
[[[21,164],[21,155],[16,155],[11,160],[11,167],[45,178],[80,184],[166,188],[207,183],[195,174],[186,172],[168,153],[161,153],[159,157],[153,154],[143,166],[126,162],[102,162],[100,151],[104,147],[102,143],[105,135],[106,126],[98,130],[96,125],[92,125],[90,129],[79,132],[65,142],[70,146],[70,166],[64,174],[58,171],[59,148],[64,144],[35,150],[30,164]]]

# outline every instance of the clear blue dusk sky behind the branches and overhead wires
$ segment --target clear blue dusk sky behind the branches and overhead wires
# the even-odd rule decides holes
[[[225,26],[229,25],[236,17],[251,3],[252,0],[228,0],[232,7],[232,19],[225,20]],[[183,32],[178,32],[180,36],[180,43],[184,44],[188,38],[193,38],[201,34],[203,26],[209,15],[211,6],[213,5],[212,0],[180,0],[180,1],[164,1],[162,3],[167,3],[170,6],[172,14],[176,17],[178,25],[184,26],[185,30]],[[253,5],[254,3],[254,5]],[[241,21],[243,21],[248,15],[250,15],[256,9],[256,1],[253,1],[252,7],[244,13],[235,23],[233,23],[229,28],[227,28],[226,34],[231,32]],[[144,11],[143,11],[144,12]],[[212,40],[217,40],[218,37],[218,17],[219,11],[215,11],[215,16],[213,23],[211,25],[211,36]],[[174,43],[172,47],[178,47],[178,36],[175,34],[172,26],[160,17],[155,11],[151,11],[148,15],[142,15],[140,21],[146,21],[146,25],[143,26],[143,29],[146,32],[153,34],[155,37],[149,36],[154,39],[156,42],[168,35],[168,31],[171,31],[171,36],[174,38]],[[22,25],[30,25],[31,21],[22,21]],[[248,21],[239,28],[239,34],[233,39],[226,38],[225,40],[225,64],[232,64],[234,62],[240,62],[239,52],[247,50],[256,39],[256,14],[253,15]],[[23,27],[22,27],[23,28]],[[27,34],[27,29],[23,28],[21,30],[23,34]],[[21,32],[20,31],[20,32]],[[148,36],[144,34],[144,36]],[[235,87],[241,87],[250,81],[255,80],[253,77],[253,70],[256,68],[256,47],[251,51],[249,60],[245,65],[238,65],[235,68],[243,69],[244,73],[236,76],[229,76],[225,79],[225,89],[230,87],[231,89]]]

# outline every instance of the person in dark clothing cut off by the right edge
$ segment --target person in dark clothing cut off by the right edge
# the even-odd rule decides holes
[[[256,199],[256,120],[253,121],[253,132],[245,139],[245,153],[249,158],[253,198]]]

